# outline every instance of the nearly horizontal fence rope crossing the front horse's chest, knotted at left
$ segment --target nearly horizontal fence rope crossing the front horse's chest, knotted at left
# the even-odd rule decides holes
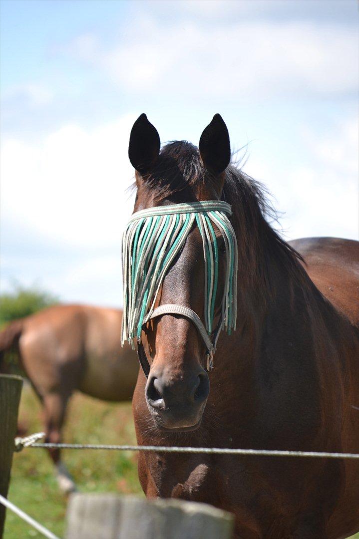
[[[40,436],[41,435],[41,436]],[[106,451],[149,451],[160,453],[206,453],[217,455],[259,455],[261,457],[310,457],[327,459],[359,459],[358,453],[332,453],[326,451],[282,451],[267,449],[238,449],[222,447],[174,447],[157,445],[103,445],[103,444],[52,444],[39,443],[45,434],[38,432],[26,438],[16,438],[16,451],[24,447],[43,447],[47,449],[88,449]]]

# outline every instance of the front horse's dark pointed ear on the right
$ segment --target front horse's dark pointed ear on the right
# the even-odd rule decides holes
[[[223,118],[215,114],[199,139],[199,153],[205,168],[220,174],[230,163],[229,133]]]

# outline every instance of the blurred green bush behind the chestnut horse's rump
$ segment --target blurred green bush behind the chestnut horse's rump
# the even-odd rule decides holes
[[[0,295],[0,326],[50,307],[58,301],[57,296],[37,287],[16,285],[13,292]]]

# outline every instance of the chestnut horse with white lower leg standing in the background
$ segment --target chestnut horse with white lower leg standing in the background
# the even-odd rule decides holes
[[[45,412],[46,441],[61,442],[68,399],[74,390],[102,400],[130,400],[138,373],[136,354],[121,348],[122,311],[57,305],[11,322],[0,333],[0,352],[16,347],[20,366]],[[61,490],[75,485],[50,450]]]

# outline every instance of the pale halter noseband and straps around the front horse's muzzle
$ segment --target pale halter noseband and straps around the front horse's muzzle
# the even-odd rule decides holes
[[[157,316],[162,316],[163,314],[178,314],[180,316],[184,316],[185,318],[188,318],[191,322],[195,324],[198,330],[198,333],[199,335],[201,335],[204,341],[206,350],[207,350],[206,369],[208,370],[208,372],[210,372],[213,368],[213,355],[215,354],[215,347],[217,344],[217,339],[218,339],[218,335],[220,331],[219,325],[215,331],[215,340],[213,340],[213,343],[212,343],[212,341],[210,340],[208,336],[206,328],[204,327],[202,320],[194,312],[194,310],[189,309],[188,307],[184,307],[183,305],[176,305],[175,303],[166,303],[165,305],[160,305],[160,307],[157,307],[156,309],[154,309],[153,313],[147,318],[147,321],[153,318],[156,318]],[[139,361],[140,361],[142,370],[144,372],[144,375],[147,378],[150,371],[150,364],[148,362],[146,352],[144,351],[141,340],[137,342],[137,354],[139,355]]]

